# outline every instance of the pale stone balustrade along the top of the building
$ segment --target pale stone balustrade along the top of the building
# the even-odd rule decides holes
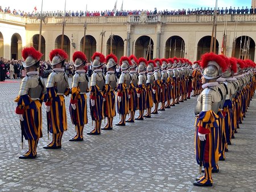
[[[256,22],[256,14],[239,15],[217,15],[217,22]],[[34,17],[25,17],[19,15],[0,12],[0,20],[23,24],[38,24],[40,19]],[[213,15],[127,15],[127,16],[71,16],[65,17],[68,24],[82,23],[212,23]],[[61,24],[63,17],[47,16],[47,24]]]

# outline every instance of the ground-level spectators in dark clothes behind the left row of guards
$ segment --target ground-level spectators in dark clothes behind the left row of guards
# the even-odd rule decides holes
[[[67,73],[68,77],[72,77],[75,74],[75,66],[73,62],[65,62],[64,63],[65,73]],[[90,77],[92,75],[92,65],[90,62],[86,64],[85,70]],[[103,66],[104,73],[106,74],[106,65]],[[39,67],[39,75],[43,78],[47,78],[49,74],[52,72],[51,62],[49,61],[40,61]],[[121,70],[117,68],[117,78],[119,78],[121,74]],[[22,60],[7,60],[0,58],[0,81],[5,81],[6,79],[17,79],[23,78],[26,76],[26,69],[22,65]]]

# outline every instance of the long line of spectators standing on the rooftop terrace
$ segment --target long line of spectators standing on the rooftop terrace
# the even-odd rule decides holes
[[[36,11],[36,7],[32,12],[24,12],[20,10],[10,10],[10,7],[5,7],[3,10],[2,7],[0,6],[0,12],[7,12],[9,14],[14,14],[14,15],[20,15],[20,16],[38,16],[40,12]],[[179,10],[163,10],[163,11],[157,11],[156,8],[154,11],[148,11],[148,10],[105,10],[105,11],[65,11],[65,16],[126,16],[126,15],[141,15],[142,13],[145,13],[147,15],[209,15],[213,14],[214,8],[208,7],[201,7],[201,9],[179,9]],[[226,7],[222,7],[221,9],[218,7],[217,9],[217,14],[256,14],[256,7],[253,8],[241,8],[238,7],[231,7],[228,9]],[[44,11],[43,12],[44,16],[64,16],[64,11]]]

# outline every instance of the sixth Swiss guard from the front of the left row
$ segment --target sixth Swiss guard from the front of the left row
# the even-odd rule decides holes
[[[131,76],[129,74],[129,68],[131,61],[129,57],[121,57],[119,60],[119,65],[121,66],[121,76],[119,77],[119,82],[117,86],[117,110],[119,115],[121,115],[121,121],[116,126],[125,126],[126,115],[129,114],[129,87],[131,83]]]

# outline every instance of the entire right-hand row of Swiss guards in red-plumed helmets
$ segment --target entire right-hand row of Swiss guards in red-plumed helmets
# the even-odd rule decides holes
[[[228,145],[232,144],[234,133],[245,118],[254,95],[256,65],[251,60],[214,53],[205,53],[194,65],[201,66],[202,75],[203,91],[195,108],[195,152],[200,174],[204,174],[197,177],[193,185],[212,186],[212,173],[219,172],[218,161],[225,161]],[[199,76],[197,71],[192,75]],[[193,80],[193,87],[196,88],[198,83]],[[197,90],[194,92],[198,93]]]

